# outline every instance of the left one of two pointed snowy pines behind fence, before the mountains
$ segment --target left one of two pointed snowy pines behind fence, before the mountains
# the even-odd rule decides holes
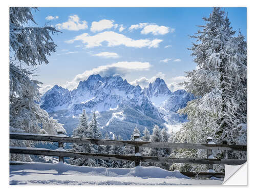
[[[76,127],[76,129],[74,129],[72,137],[91,138],[91,133],[88,127],[86,110],[83,110],[79,119],[78,126]],[[73,143],[70,151],[81,152],[81,153],[91,153],[91,146],[86,143]],[[87,159],[83,159],[83,158],[70,158],[70,164],[82,166],[82,165],[88,165],[88,162],[87,162]]]

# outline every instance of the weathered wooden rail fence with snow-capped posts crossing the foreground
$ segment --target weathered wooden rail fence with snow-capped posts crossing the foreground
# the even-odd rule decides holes
[[[86,139],[74,138],[63,135],[58,132],[57,135],[43,135],[43,134],[24,134],[24,133],[10,133],[10,139],[30,140],[30,141],[49,141],[58,142],[60,149],[63,148],[63,143],[87,143],[96,145],[117,145],[117,146],[130,146],[135,147],[135,154],[140,152],[141,147],[148,148],[187,148],[187,149],[202,149],[207,150],[206,158],[173,158],[173,157],[152,157],[152,156],[137,156],[137,155],[114,155],[114,154],[94,154],[94,153],[79,153],[69,152],[65,150],[48,150],[44,148],[32,147],[10,147],[10,153],[13,154],[28,154],[28,155],[44,155],[44,156],[57,156],[59,161],[64,161],[64,157],[75,157],[84,159],[103,159],[103,160],[122,160],[134,161],[135,166],[140,162],[159,162],[159,163],[196,163],[208,164],[208,169],[212,169],[212,164],[227,164],[227,165],[240,165],[246,160],[240,159],[215,159],[212,156],[212,150],[224,151],[246,151],[246,145],[226,145],[226,144],[212,144],[212,138],[208,137],[207,142],[210,144],[195,144],[195,143],[168,143],[168,142],[145,142],[137,141],[139,136],[135,136],[135,141],[122,141],[122,140],[105,140],[105,139]],[[192,173],[181,172],[188,177],[195,176],[219,176],[223,177],[224,173]]]

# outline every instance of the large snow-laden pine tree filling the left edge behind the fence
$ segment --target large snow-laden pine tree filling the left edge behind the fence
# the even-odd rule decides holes
[[[34,74],[30,66],[48,63],[47,56],[55,52],[50,33],[58,31],[52,27],[29,27],[34,24],[31,10],[36,8],[10,8],[10,132],[56,134],[62,124],[50,118],[35,102],[40,100],[41,82],[31,80]],[[26,39],[26,40],[25,40]],[[31,146],[32,142],[10,140],[11,146]],[[31,161],[28,155],[11,154],[11,160]]]

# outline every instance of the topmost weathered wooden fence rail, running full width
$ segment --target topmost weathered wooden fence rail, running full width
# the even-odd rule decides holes
[[[188,148],[202,150],[229,150],[246,151],[246,145],[223,145],[223,144],[197,144],[197,143],[167,143],[167,142],[145,142],[145,141],[121,141],[105,139],[84,139],[75,137],[60,137],[43,134],[10,134],[10,139],[31,140],[31,141],[50,141],[66,143],[88,143],[97,145],[117,145],[117,146],[139,146],[139,147],[161,147],[161,148]]]

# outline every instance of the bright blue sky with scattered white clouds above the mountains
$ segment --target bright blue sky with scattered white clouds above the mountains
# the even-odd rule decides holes
[[[224,8],[234,30],[246,36],[246,8]],[[76,88],[91,74],[120,74],[144,87],[161,77],[171,91],[195,69],[193,35],[212,8],[39,8],[38,26],[52,25],[58,46],[48,65],[38,67],[41,92],[55,84]]]

